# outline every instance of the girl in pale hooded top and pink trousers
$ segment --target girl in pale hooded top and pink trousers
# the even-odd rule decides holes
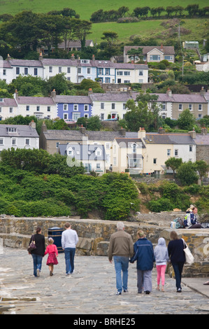
[[[159,283],[161,279],[161,291],[164,291],[166,265],[169,262],[168,248],[166,247],[166,240],[160,237],[157,246],[154,248],[154,257],[157,268],[157,290],[159,290]]]

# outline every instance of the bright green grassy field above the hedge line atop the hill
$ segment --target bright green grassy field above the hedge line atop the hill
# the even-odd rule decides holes
[[[187,7],[189,4],[198,3],[200,8],[208,6],[208,0],[175,0],[168,1],[161,0],[160,3],[157,0],[133,0],[131,3],[127,3],[125,0],[0,0],[1,14],[10,13],[12,15],[19,13],[22,10],[33,10],[36,13],[47,13],[51,10],[61,10],[62,8],[68,7],[73,8],[76,13],[80,15],[82,20],[89,20],[94,11],[103,10],[117,10],[122,6],[128,6],[130,13],[136,7],[149,6],[150,8],[156,8],[162,6],[166,8],[167,6],[182,6]]]

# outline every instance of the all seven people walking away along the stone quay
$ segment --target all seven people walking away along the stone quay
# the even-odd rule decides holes
[[[75,230],[72,230],[71,224],[65,224],[66,230],[62,232],[62,248],[64,249],[66,275],[72,274],[74,271],[75,247],[78,243],[78,235]],[[166,265],[171,262],[175,272],[175,283],[177,292],[180,293],[182,269],[185,264],[185,244],[182,239],[178,238],[175,231],[171,231],[171,241],[166,247],[164,238],[159,238],[157,246],[153,248],[152,242],[145,237],[142,230],[137,232],[138,240],[133,243],[131,235],[124,231],[124,223],[117,223],[117,232],[110,237],[110,245],[108,250],[108,259],[112,263],[114,260],[116,273],[116,288],[117,295],[122,292],[128,292],[128,269],[129,262],[132,264],[136,261],[137,269],[137,288],[138,293],[150,294],[152,291],[152,269],[154,262],[157,268],[157,290],[164,291]],[[54,240],[48,239],[48,246],[45,249],[45,237],[41,233],[41,228],[36,229],[36,234],[31,236],[31,241],[34,240],[36,248],[31,253],[34,261],[34,276],[40,276],[42,260],[48,254],[46,265],[50,270],[50,276],[53,275],[54,265],[58,264],[58,251]]]

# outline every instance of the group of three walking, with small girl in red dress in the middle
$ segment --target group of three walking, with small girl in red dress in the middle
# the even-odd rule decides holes
[[[65,225],[66,230],[62,232],[62,248],[64,249],[65,262],[66,262],[66,275],[74,272],[74,257],[75,246],[78,243],[78,235],[75,230],[71,229],[71,224],[67,222]],[[52,237],[48,239],[48,246],[45,249],[45,236],[42,235],[41,228],[36,228],[36,234],[31,236],[31,241],[34,241],[35,248],[29,253],[34,260],[34,276],[40,276],[42,260],[45,255],[48,254],[46,265],[50,270],[50,276],[53,275],[54,265],[58,264],[58,251],[57,246],[54,244]]]

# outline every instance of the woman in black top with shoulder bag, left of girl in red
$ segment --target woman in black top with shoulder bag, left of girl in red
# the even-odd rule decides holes
[[[36,248],[29,251],[29,254],[32,255],[34,260],[34,276],[40,276],[42,259],[45,253],[45,237],[41,234],[40,227],[36,228],[36,234],[31,236],[29,246],[33,240]]]

